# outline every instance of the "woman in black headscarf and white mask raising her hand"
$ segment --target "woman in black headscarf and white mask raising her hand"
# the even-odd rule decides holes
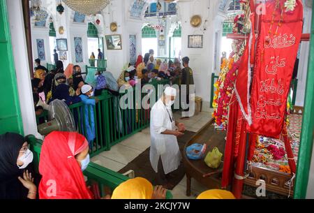
[[[0,199],[36,198],[37,187],[33,184],[31,161],[33,153],[22,135],[0,135]],[[38,179],[35,179],[37,182]]]

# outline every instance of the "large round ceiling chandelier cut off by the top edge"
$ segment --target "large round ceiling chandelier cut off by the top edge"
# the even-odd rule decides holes
[[[103,10],[111,0],[63,0],[66,5],[84,15],[94,15]]]

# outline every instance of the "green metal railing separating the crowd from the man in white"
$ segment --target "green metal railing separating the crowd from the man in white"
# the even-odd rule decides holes
[[[160,80],[149,84],[156,91],[155,100],[158,100],[158,96],[160,95],[157,91],[158,85],[169,85],[169,83],[169,80]],[[72,112],[75,119],[77,131],[85,135],[85,137],[87,137],[86,122],[88,121],[89,126],[91,126],[91,112],[94,111],[96,138],[94,142],[91,142],[91,156],[110,150],[113,145],[149,126],[150,108],[145,110],[141,106],[146,94],[142,94],[137,103],[137,98],[135,97],[138,94],[137,92],[136,87],[133,87],[133,93],[130,94],[133,101],[128,103],[128,108],[126,109],[121,109],[119,105],[121,97],[126,95],[126,93],[114,96],[107,90],[104,90],[100,96],[97,96],[99,101],[94,105],[93,110],[91,110],[91,105],[87,106],[89,108],[87,110],[89,115],[85,115],[84,104],[82,102],[69,106],[70,112]],[[140,108],[138,108],[139,106]],[[38,122],[40,117],[47,120],[47,114],[36,116]]]

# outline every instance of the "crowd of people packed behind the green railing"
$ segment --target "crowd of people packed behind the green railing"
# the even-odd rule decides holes
[[[83,85],[87,85],[87,82],[82,76],[80,66],[69,64],[64,70],[62,61],[57,61],[56,68],[48,71],[40,65],[39,59],[35,60],[35,64],[31,87],[36,115],[43,112],[43,103],[49,104],[55,99],[63,100],[67,105],[82,101],[84,96],[81,89]],[[163,79],[170,80],[170,84],[180,85],[181,76],[179,59],[175,59],[174,62],[169,61],[169,63],[161,62],[160,59],[154,59],[151,53],[147,53],[144,59],[139,55],[134,65],[128,64],[124,67],[118,80],[115,80],[109,71],[103,73],[96,71],[93,93],[89,94],[89,98],[99,96],[104,89],[117,95],[119,87],[122,85],[134,87],[139,80],[141,85]]]

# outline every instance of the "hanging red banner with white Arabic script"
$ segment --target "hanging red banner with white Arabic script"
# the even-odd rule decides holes
[[[287,94],[301,38],[303,6],[286,10],[285,0],[266,2],[257,38],[251,91],[252,124],[248,131],[279,138],[283,129]]]

